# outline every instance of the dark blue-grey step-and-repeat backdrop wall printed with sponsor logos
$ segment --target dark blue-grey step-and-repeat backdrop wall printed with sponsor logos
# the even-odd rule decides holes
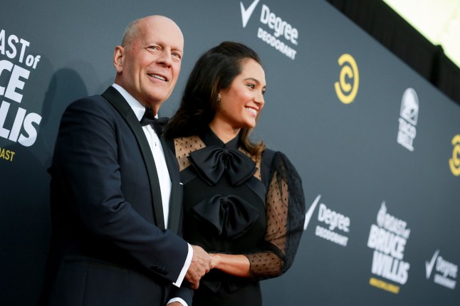
[[[291,270],[264,305],[459,305],[460,108],[326,1],[9,1],[0,10],[1,305],[36,305],[51,233],[49,176],[65,107],[113,83],[130,21],[169,16],[185,52],[240,41],[264,63],[253,138],[303,178]]]

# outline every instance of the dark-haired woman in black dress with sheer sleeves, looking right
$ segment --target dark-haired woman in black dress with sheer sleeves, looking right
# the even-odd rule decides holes
[[[262,305],[258,281],[286,272],[296,255],[300,177],[283,153],[249,140],[265,89],[257,54],[221,43],[195,64],[166,130],[184,184],[184,238],[213,256],[194,306]]]

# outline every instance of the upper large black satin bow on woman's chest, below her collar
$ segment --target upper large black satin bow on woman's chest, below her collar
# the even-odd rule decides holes
[[[204,147],[189,154],[198,175],[213,186],[226,172],[232,186],[238,186],[256,172],[256,163],[243,152],[224,147]]]

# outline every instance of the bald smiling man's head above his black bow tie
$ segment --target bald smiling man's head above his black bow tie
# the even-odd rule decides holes
[[[184,37],[173,21],[146,17],[132,42],[115,49],[115,83],[156,114],[177,83],[183,51]]]

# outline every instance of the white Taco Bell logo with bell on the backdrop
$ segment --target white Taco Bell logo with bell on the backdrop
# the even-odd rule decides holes
[[[409,151],[414,151],[414,139],[417,135],[415,126],[419,117],[419,97],[412,88],[407,88],[402,95],[399,112],[399,131],[397,142]]]

